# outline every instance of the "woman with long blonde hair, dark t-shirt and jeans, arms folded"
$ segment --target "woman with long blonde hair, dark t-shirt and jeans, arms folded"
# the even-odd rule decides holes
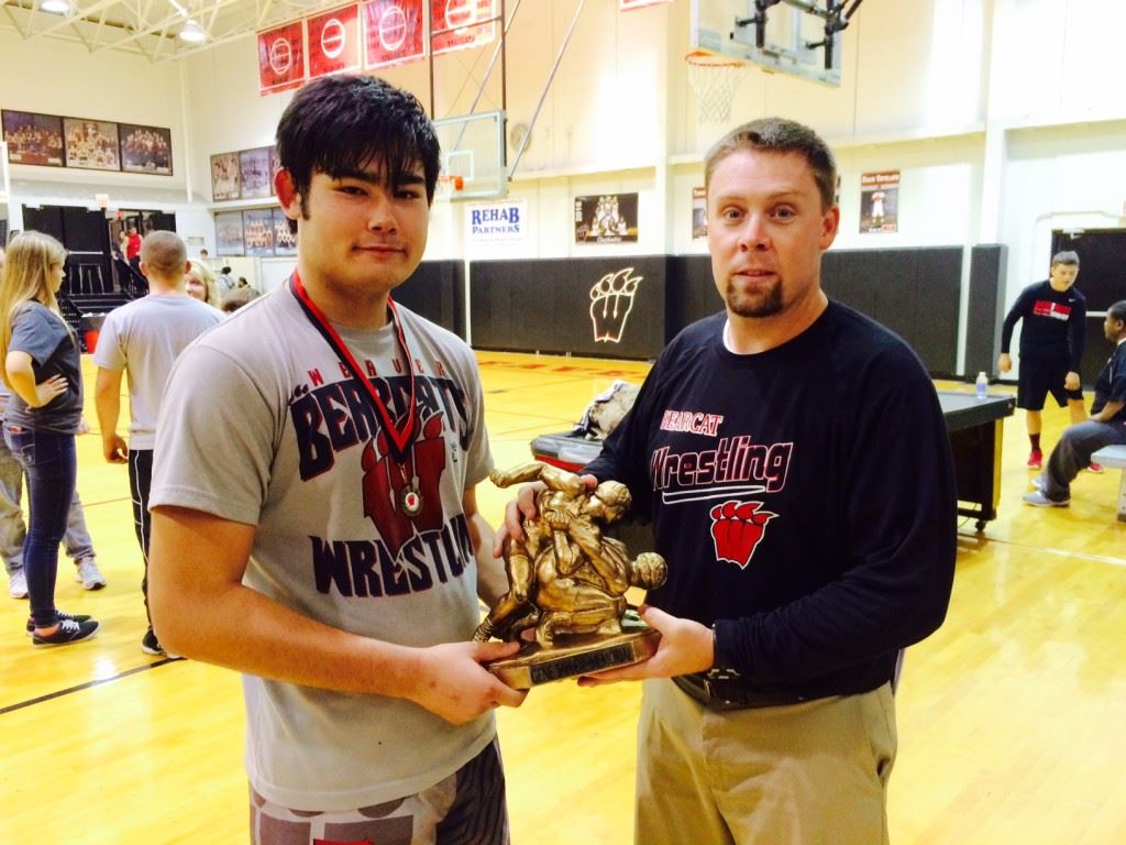
[[[3,436],[27,473],[30,518],[24,570],[32,644],[68,646],[97,632],[89,616],[55,607],[59,543],[78,472],[74,434],[82,417],[78,337],[59,312],[66,250],[54,238],[23,232],[8,244],[0,275],[0,358],[12,395]]]

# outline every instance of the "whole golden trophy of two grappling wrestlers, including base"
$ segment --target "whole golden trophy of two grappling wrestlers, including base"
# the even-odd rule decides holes
[[[627,608],[625,593],[664,584],[664,559],[643,552],[631,560],[625,543],[602,534],[602,526],[629,509],[625,484],[604,481],[588,490],[575,473],[539,462],[492,470],[489,478],[498,487],[547,486],[536,493],[538,516],[524,523],[525,540],[504,552],[508,593],[473,634],[481,642],[525,640],[490,671],[528,690],[652,657],[661,634]],[[521,637],[528,629],[535,629],[534,640]]]

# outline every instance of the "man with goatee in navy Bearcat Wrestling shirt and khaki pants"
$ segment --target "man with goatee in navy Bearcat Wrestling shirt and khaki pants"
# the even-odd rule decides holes
[[[911,349],[821,290],[840,211],[812,130],[734,130],[705,185],[726,308],[661,354],[587,468],[653,519],[661,646],[580,683],[644,679],[635,842],[878,845],[896,657],[954,577],[941,410]]]

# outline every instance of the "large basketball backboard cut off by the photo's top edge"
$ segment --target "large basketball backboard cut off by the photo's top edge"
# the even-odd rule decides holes
[[[840,84],[844,6],[846,0],[691,0],[690,45],[767,71]]]

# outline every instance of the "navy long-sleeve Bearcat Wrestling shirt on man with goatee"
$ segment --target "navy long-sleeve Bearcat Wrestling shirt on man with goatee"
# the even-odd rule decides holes
[[[714,624],[717,666],[763,693],[875,690],[950,596],[935,388],[900,338],[838,303],[757,355],[724,346],[725,321],[672,340],[587,471],[652,517],[669,579],[647,601]]]

